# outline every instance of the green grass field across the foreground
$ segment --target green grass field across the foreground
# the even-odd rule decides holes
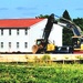
[[[0,83],[83,83],[83,64],[0,64]]]

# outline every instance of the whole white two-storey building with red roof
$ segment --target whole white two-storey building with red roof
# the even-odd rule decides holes
[[[46,19],[0,20],[0,52],[31,52],[35,40],[42,38]],[[54,24],[50,38],[62,45],[62,28]]]

